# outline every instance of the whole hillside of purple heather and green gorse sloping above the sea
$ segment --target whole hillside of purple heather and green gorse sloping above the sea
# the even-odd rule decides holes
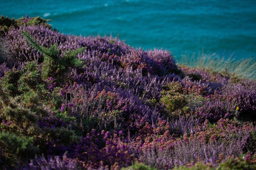
[[[255,169],[255,81],[1,20],[0,168]]]

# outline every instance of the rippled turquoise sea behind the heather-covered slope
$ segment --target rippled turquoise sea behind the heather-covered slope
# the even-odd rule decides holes
[[[256,57],[255,0],[0,0],[0,15],[41,16],[64,34],[111,35],[173,55]]]

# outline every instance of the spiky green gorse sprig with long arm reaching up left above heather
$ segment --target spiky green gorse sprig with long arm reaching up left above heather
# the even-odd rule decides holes
[[[42,66],[42,77],[44,79],[52,77],[61,80],[61,77],[68,71],[69,67],[79,67],[83,64],[81,59],[77,58],[77,55],[84,52],[85,47],[74,51],[68,51],[61,57],[57,43],[47,49],[36,42],[29,33],[22,31],[22,35],[34,49],[44,55]]]

